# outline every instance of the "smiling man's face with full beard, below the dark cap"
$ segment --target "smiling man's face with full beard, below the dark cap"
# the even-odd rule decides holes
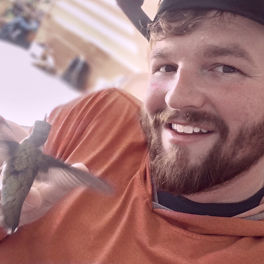
[[[262,158],[263,43],[264,27],[240,16],[155,43],[142,123],[159,189],[200,192]]]

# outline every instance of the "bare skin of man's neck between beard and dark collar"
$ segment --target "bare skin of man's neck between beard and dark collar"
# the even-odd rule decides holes
[[[264,186],[263,160],[234,179],[216,186],[212,190],[183,195],[198,203],[237,203],[244,201]]]

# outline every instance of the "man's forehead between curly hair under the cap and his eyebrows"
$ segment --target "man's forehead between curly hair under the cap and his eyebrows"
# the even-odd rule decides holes
[[[224,52],[228,56],[228,52],[234,52],[235,56],[244,56],[249,60],[252,57],[254,60],[264,54],[263,42],[263,25],[242,16],[226,15],[206,19],[195,31],[186,35],[170,36],[157,41],[150,52],[150,59],[169,52],[179,52],[180,48],[190,48],[192,54],[200,53],[201,56],[217,56],[217,52]]]

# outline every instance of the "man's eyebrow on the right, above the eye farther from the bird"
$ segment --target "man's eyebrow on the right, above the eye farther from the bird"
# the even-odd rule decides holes
[[[254,64],[254,61],[251,59],[249,53],[237,44],[230,44],[227,47],[209,45],[205,48],[203,56],[207,58],[233,56],[247,60],[248,62]]]

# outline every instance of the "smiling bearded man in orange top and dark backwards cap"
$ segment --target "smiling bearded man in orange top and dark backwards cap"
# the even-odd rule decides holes
[[[115,194],[74,190],[31,224],[28,210],[1,263],[263,263],[264,2],[189,3],[164,0],[150,26],[145,136],[116,89],[48,118],[45,152]]]

